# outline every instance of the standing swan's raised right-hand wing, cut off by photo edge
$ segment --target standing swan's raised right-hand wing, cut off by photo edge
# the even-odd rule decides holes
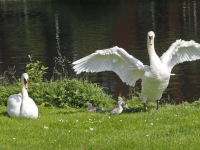
[[[200,59],[200,44],[194,41],[177,40],[160,59],[171,72],[176,64]]]

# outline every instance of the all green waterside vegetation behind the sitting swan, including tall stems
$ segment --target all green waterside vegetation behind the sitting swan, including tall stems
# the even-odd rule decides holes
[[[46,106],[59,108],[81,108],[89,102],[98,107],[108,107],[114,103],[111,96],[107,95],[97,84],[91,84],[87,80],[67,78],[66,68],[64,68],[66,59],[56,59],[54,73],[57,78],[54,77],[54,80],[44,82],[43,75],[46,73],[47,67],[44,67],[39,61],[34,61],[31,56],[29,58],[30,62],[26,65],[26,72],[30,78],[28,93],[36,104],[43,103]],[[60,72],[58,68],[61,68]],[[9,95],[21,92],[20,80],[15,78],[15,72],[15,69],[11,69],[4,75],[6,80],[4,79],[0,86],[0,105],[6,105]],[[8,74],[15,79],[14,83],[8,84]]]

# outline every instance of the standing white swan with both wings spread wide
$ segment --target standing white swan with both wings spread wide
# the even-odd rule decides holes
[[[143,65],[137,58],[129,55],[123,48],[117,46],[97,50],[82,59],[73,62],[73,69],[77,74],[81,72],[114,71],[127,85],[135,86],[141,79],[141,99],[146,111],[147,101],[159,100],[167,88],[173,67],[185,61],[200,59],[200,44],[191,41],[176,40],[159,58],[154,49],[155,34],[147,33],[147,49],[150,65]]]

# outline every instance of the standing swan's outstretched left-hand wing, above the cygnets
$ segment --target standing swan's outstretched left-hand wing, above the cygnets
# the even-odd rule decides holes
[[[114,71],[123,82],[135,86],[149,66],[129,55],[123,48],[113,47],[97,50],[80,60],[73,62],[73,69],[77,74],[81,72]]]

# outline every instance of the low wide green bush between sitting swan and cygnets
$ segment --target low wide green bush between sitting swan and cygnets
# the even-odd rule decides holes
[[[114,102],[97,84],[76,79],[31,83],[29,95],[37,104],[45,103],[60,108],[81,108],[89,102],[105,107]]]

